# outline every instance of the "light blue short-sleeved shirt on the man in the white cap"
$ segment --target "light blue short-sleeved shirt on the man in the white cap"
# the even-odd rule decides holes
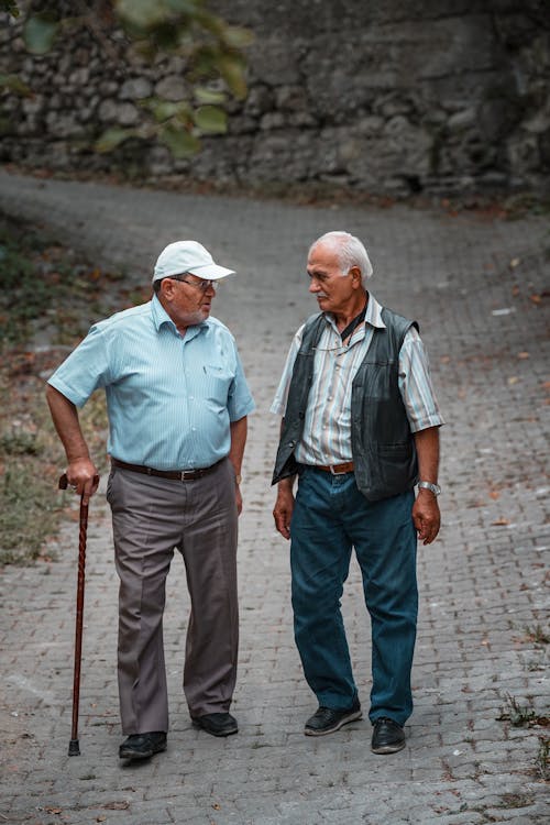
[[[77,407],[105,388],[108,452],[156,470],[215,464],[254,409],[228,328],[208,318],[182,336],[156,296],[94,324],[48,383]]]

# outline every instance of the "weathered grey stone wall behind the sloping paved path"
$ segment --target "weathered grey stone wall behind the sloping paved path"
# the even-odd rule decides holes
[[[316,184],[373,195],[534,190],[550,182],[548,0],[216,0],[249,25],[250,94],[224,135],[190,161],[128,142],[87,148],[140,121],[138,100],[184,95],[178,61],[111,62],[84,31],[44,57],[2,25],[2,70],[31,99],[3,97],[0,161],[227,185]],[[0,15],[6,16],[6,15]]]

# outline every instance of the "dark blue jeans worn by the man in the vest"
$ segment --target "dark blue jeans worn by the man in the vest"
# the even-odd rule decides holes
[[[372,627],[372,722],[404,725],[413,712],[417,537],[414,493],[369,502],[353,473],[302,468],[290,525],[295,639],[319,704],[350,707],[358,695],[340,600],[351,550],[363,575]]]

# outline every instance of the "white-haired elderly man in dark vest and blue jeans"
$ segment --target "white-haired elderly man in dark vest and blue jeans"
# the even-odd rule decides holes
[[[416,547],[439,531],[443,419],[418,326],[366,290],[361,241],[328,232],[307,272],[321,311],[297,331],[272,406],[283,416],[273,515],[292,539],[295,638],[319,703],[305,734],[362,715],[340,609],[354,548],[372,624],[372,750],[393,754],[413,711]]]

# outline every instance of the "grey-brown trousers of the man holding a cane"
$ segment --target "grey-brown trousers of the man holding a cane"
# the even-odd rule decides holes
[[[184,691],[191,716],[229,710],[239,614],[234,471],[220,462],[195,481],[113,468],[111,506],[119,592],[119,695],[127,735],[168,730],[163,613],[174,549],[184,558],[191,609]]]

